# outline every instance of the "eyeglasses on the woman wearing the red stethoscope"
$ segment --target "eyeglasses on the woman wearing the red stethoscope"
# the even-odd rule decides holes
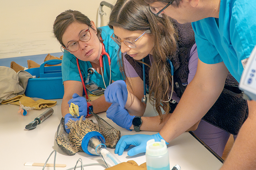
[[[76,52],[77,50],[79,50],[79,48],[80,48],[79,41],[82,41],[82,42],[86,43],[91,39],[91,33],[90,33],[89,29],[90,29],[90,26],[87,30],[82,32],[82,35],[81,35],[81,37],[79,38],[78,41],[75,41],[75,42],[71,43],[67,47],[61,46],[61,49],[66,49],[70,52]]]

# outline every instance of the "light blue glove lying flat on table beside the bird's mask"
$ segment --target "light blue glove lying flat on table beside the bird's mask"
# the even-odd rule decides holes
[[[125,135],[122,136],[117,142],[115,154],[122,155],[124,150],[129,148],[130,145],[134,145],[136,147],[130,149],[128,151],[128,156],[134,156],[142,152],[146,152],[147,141],[150,139],[155,139],[156,142],[161,141],[162,136],[157,133],[155,135]],[[166,142],[166,145],[169,143]]]

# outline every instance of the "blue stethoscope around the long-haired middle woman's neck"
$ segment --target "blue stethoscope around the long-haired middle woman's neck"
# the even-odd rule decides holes
[[[173,75],[174,75],[174,67],[173,64],[171,62],[171,60],[167,59],[169,65],[171,66],[171,76],[172,76],[172,92],[171,92],[171,97],[169,98],[168,95],[168,101],[163,101],[163,102],[170,102],[172,99],[172,94],[173,94]],[[144,58],[142,58],[142,62],[144,63]],[[146,97],[146,81],[145,81],[145,66],[144,64],[142,65],[142,69],[143,69],[143,86],[144,86],[144,97],[141,99],[142,103],[147,103],[147,97]],[[175,103],[175,100],[172,101],[172,103]]]

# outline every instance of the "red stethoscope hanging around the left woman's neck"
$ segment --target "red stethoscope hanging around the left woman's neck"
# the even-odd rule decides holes
[[[102,38],[100,37],[100,40],[102,41]],[[102,80],[103,80],[103,83],[104,83],[104,86],[106,88],[106,84],[105,84],[105,81],[104,81],[104,78],[103,78],[103,72],[102,72],[102,56],[103,55],[106,55],[108,57],[108,61],[109,61],[109,71],[110,71],[110,79],[109,79],[109,85],[111,83],[111,67],[110,67],[110,56],[109,54],[106,52],[105,50],[105,47],[104,47],[104,44],[103,42],[101,42],[102,44],[102,52],[100,54],[100,59],[99,59],[99,62],[100,62],[100,69],[101,69],[101,74],[102,74]],[[85,84],[84,84],[84,79],[83,79],[83,76],[82,76],[82,73],[81,73],[81,70],[80,70],[80,66],[79,66],[79,61],[78,61],[78,58],[76,58],[76,64],[77,64],[77,68],[79,70],[79,74],[80,74],[80,78],[81,78],[81,81],[82,81],[82,84],[83,84],[83,88],[84,88],[84,92],[85,92],[85,96],[86,96],[86,99],[88,100],[88,95],[87,95],[87,91],[86,91],[86,88],[85,88]],[[101,88],[103,89],[103,88]],[[105,89],[103,89],[105,90]]]

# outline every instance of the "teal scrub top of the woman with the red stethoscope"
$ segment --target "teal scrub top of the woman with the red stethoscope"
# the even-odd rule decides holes
[[[98,28],[101,30],[101,37],[103,39],[103,44],[106,52],[109,54],[111,58],[111,80],[124,80],[122,72],[120,71],[119,63],[117,61],[117,57],[121,57],[121,52],[119,51],[119,46],[113,41],[110,36],[113,34],[113,30],[109,28],[109,26],[104,26]],[[119,53],[119,54],[118,54]],[[104,67],[104,81],[106,86],[109,85],[110,79],[110,70],[109,70],[109,62],[108,57],[103,55],[103,67]],[[79,60],[79,66],[81,69],[82,76],[84,81],[88,75],[88,68],[92,67],[90,62]],[[61,71],[62,71],[62,81],[80,81],[81,78],[79,75],[79,71],[76,64],[76,57],[68,51],[63,53],[62,63],[61,63]],[[94,74],[90,74],[90,80],[94,81],[99,87],[105,88],[102,76],[96,70]]]

